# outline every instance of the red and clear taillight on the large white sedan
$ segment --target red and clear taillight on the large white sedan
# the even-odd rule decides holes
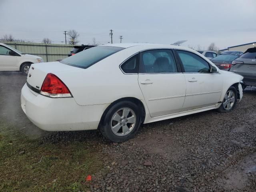
[[[48,97],[72,97],[68,87],[54,74],[48,73],[42,84],[40,94]]]

